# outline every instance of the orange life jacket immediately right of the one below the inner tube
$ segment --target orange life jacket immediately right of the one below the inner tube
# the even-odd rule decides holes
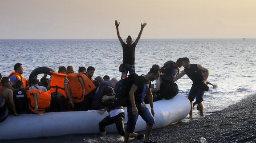
[[[78,80],[79,77],[80,76],[78,73],[69,73],[68,74],[69,88],[71,90],[74,103],[79,103],[84,100],[82,85]]]

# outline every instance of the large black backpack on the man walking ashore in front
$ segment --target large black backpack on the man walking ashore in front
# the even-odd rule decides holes
[[[138,74],[132,73],[127,78],[121,79],[115,85],[116,93],[116,105],[127,107],[130,103],[129,91],[134,83],[134,79],[138,77]]]

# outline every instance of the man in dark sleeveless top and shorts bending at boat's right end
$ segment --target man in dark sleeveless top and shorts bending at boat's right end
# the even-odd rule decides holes
[[[187,74],[187,76],[193,81],[192,87],[188,94],[188,99],[191,103],[191,109],[189,112],[189,118],[192,119],[192,109],[193,109],[193,100],[195,99],[196,103],[198,104],[198,108],[200,111],[200,118],[204,117],[203,115],[203,84],[206,85],[207,78],[209,76],[209,70],[202,67],[198,64],[190,64],[188,58],[182,59],[182,66],[184,70],[174,78],[174,81],[177,81],[179,78],[183,77],[183,75]],[[203,73],[205,73],[205,78],[203,77]]]

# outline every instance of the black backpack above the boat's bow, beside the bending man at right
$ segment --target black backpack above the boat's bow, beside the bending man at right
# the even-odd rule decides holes
[[[160,87],[160,96],[164,99],[171,99],[179,93],[178,85],[173,81],[173,78],[170,75],[161,76],[161,87]]]

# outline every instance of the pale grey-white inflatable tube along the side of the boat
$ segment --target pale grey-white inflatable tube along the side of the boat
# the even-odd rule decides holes
[[[146,104],[150,108],[149,104]],[[79,112],[53,112],[9,116],[0,123],[0,139],[35,138],[67,134],[99,133],[99,122],[108,113],[98,114],[99,110]],[[154,102],[154,128],[163,128],[182,120],[190,112],[190,102],[183,94],[178,94],[170,100]],[[125,108],[125,121],[127,111]],[[135,131],[146,129],[146,122],[139,116]],[[117,132],[115,124],[106,127],[107,132]]]

